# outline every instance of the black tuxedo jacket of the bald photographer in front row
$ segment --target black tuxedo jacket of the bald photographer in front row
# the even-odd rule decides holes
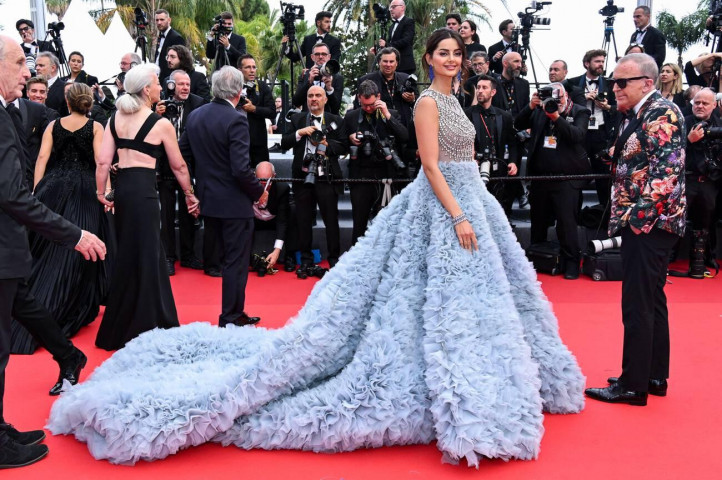
[[[309,112],[296,113],[291,117],[291,126],[288,128],[288,133],[284,133],[281,137],[281,150],[293,149],[293,163],[291,164],[291,174],[293,178],[305,178],[306,173],[302,170],[303,157],[306,156],[306,141],[307,136],[302,136],[299,141],[296,141],[296,131],[301,128],[309,126],[311,120],[311,114]],[[329,168],[331,169],[331,175],[333,178],[343,178],[341,167],[338,164],[339,155],[346,153],[346,142],[343,138],[345,128],[343,127],[343,119],[333,113],[324,112],[323,120],[326,125],[330,125],[331,122],[336,122],[337,129],[333,132],[329,132],[326,140],[328,141],[328,149],[326,150],[326,156],[329,161]],[[343,191],[343,185],[338,184]]]

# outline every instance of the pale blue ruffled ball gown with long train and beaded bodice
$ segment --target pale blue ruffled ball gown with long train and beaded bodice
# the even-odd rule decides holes
[[[123,464],[207,441],[336,452],[436,440],[452,463],[536,458],[542,412],[579,412],[585,379],[471,161],[473,126],[453,97],[424,95],[479,251],[461,248],[422,172],[285,327],[144,333],[64,393],[48,428]]]

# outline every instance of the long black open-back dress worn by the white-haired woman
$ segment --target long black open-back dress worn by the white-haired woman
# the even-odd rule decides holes
[[[155,121],[151,115],[146,122],[150,126],[144,126],[141,131],[150,130]],[[114,119],[111,122],[115,137]],[[124,140],[116,137],[116,145],[120,148]],[[125,142],[144,143],[142,140],[136,137]],[[160,241],[155,169],[131,167],[118,170],[115,229],[117,260],[103,321],[95,339],[95,344],[105,350],[122,348],[148,330],[179,325]]]

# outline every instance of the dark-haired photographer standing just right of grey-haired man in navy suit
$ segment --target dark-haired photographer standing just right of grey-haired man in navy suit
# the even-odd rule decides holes
[[[276,109],[273,104],[273,92],[266,82],[256,78],[256,60],[246,53],[238,60],[238,69],[243,73],[243,96],[236,110],[248,115],[248,131],[251,134],[251,167],[268,158],[268,130],[266,119],[273,118]]]

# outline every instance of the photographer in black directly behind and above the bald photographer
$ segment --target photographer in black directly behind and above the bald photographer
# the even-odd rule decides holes
[[[313,46],[311,58],[313,58],[314,65],[301,77],[296,93],[293,94],[291,100],[295,106],[300,106],[303,112],[307,112],[306,97],[308,91],[312,86],[320,86],[324,89],[328,99],[327,102],[324,102],[326,111],[338,115],[341,110],[341,98],[343,96],[343,75],[340,73],[330,75],[331,72],[325,70],[326,67],[332,66],[338,68],[339,64],[335,61],[329,62],[331,53],[325,43],[317,43]],[[326,73],[326,75],[323,75],[323,73]]]

